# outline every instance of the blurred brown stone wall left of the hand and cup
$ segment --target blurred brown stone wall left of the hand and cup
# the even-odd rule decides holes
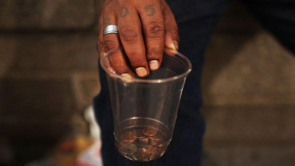
[[[40,158],[61,139],[88,132],[83,110],[100,90],[101,3],[0,2],[0,165]]]

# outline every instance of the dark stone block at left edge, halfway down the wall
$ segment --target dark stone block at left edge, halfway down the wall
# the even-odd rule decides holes
[[[67,117],[74,111],[69,80],[2,79],[0,89],[2,117],[47,119]]]

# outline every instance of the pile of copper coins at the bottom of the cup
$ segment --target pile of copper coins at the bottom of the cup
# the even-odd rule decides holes
[[[116,146],[123,156],[131,160],[149,161],[162,156],[168,143],[161,132],[141,127],[122,132]]]

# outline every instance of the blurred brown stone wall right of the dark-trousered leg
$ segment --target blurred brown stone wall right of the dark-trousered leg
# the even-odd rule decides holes
[[[239,4],[212,36],[202,92],[204,166],[295,163],[295,58]]]

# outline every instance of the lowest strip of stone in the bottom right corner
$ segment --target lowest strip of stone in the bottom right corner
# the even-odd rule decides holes
[[[207,146],[203,166],[289,166],[295,163],[295,146]]]

